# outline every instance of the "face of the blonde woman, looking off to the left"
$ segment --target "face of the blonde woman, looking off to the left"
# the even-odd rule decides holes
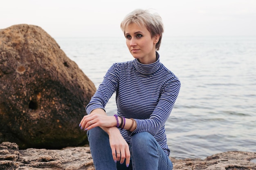
[[[159,35],[151,38],[146,26],[129,24],[125,29],[126,45],[132,56],[142,64],[151,64],[156,61],[155,44]]]

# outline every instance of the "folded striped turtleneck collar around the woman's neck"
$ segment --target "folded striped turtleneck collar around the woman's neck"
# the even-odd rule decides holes
[[[151,64],[141,64],[138,59],[135,59],[133,66],[136,71],[143,75],[150,75],[157,72],[161,68],[161,63],[159,61],[159,53],[156,51],[157,61]]]

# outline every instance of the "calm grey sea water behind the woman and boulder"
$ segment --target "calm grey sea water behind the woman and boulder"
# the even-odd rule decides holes
[[[96,87],[114,62],[133,60],[124,37],[55,40]],[[170,156],[256,152],[256,37],[164,37],[159,54],[182,84],[165,126]],[[116,113],[115,94],[106,111]]]

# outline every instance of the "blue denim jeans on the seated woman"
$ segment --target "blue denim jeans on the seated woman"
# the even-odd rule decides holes
[[[96,170],[172,170],[173,164],[155,138],[148,132],[136,133],[130,141],[130,165],[115,163],[108,134],[100,127],[87,132]]]

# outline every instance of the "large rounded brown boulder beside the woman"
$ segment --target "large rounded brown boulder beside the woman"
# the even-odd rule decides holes
[[[78,125],[95,91],[40,27],[0,30],[0,142],[22,149],[85,144]]]

